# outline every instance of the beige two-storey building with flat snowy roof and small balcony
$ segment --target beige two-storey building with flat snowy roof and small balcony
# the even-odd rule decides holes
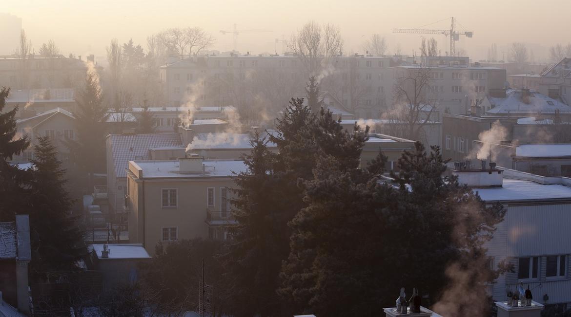
[[[178,239],[226,239],[235,223],[230,200],[239,160],[203,160],[189,155],[169,161],[129,161],[129,239],[154,254],[157,243]]]

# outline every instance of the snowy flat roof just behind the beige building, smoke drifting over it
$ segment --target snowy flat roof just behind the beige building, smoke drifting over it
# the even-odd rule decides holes
[[[263,132],[262,137],[266,136]],[[197,133],[189,144],[190,149],[251,149],[249,133]],[[267,147],[276,147],[272,142]]]

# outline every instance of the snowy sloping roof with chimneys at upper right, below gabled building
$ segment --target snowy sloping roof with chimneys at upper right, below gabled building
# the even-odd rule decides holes
[[[486,111],[486,113],[555,113],[556,110],[561,112],[571,112],[571,107],[550,98],[548,96],[539,94],[538,92],[530,91],[529,103],[522,100],[521,90],[506,91],[506,97],[488,97],[490,104],[493,108]]]

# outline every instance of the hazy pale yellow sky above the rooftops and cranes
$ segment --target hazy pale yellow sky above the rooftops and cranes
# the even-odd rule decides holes
[[[1,0],[1,12],[22,18],[36,49],[54,39],[63,54],[103,56],[112,38],[126,42],[132,38],[144,44],[146,37],[168,27],[199,26],[216,38],[212,49],[232,50],[232,35],[220,30],[264,29],[271,32],[243,33],[238,36],[242,52],[272,52],[275,39],[286,39],[303,23],[313,19],[340,27],[345,39],[344,52],[363,52],[367,36],[386,36],[389,51],[400,43],[404,54],[419,47],[421,35],[392,34],[393,28],[414,28],[449,17],[456,17],[459,29],[474,31],[474,37],[461,36],[457,47],[472,58],[485,58],[491,43],[508,51],[512,42],[524,42],[536,59],[542,58],[554,43],[569,43],[571,36],[570,0]],[[449,19],[427,26],[449,29]],[[432,36],[432,35],[425,35]],[[444,54],[448,40],[433,35]],[[281,52],[281,44],[278,51]],[[507,53],[506,53],[507,54]]]

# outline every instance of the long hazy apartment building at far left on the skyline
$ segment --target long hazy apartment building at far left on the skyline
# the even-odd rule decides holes
[[[29,88],[75,88],[83,83],[87,63],[93,63],[96,71],[103,68],[95,64],[95,56],[70,54],[39,56],[22,59],[14,55],[0,56],[0,86],[14,90]]]

